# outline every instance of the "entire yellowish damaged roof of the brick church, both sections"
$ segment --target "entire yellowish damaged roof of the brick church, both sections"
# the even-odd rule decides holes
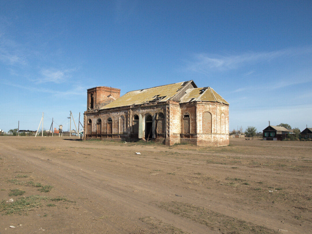
[[[177,100],[180,103],[189,101],[212,101],[229,105],[227,101],[212,88],[197,88],[194,81],[189,80],[148,89],[130,91],[115,101],[103,106],[100,110],[156,101],[166,102],[168,100]]]

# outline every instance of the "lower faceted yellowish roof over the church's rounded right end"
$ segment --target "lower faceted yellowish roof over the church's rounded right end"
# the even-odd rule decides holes
[[[180,103],[190,101],[219,102],[229,105],[229,103],[217,94],[217,92],[211,87],[188,89],[186,94],[181,98]]]

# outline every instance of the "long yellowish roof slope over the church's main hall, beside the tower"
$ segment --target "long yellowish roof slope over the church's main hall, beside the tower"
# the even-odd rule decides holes
[[[193,82],[193,80],[187,81],[187,83],[189,82]],[[184,83],[186,82],[130,91],[110,104],[103,106],[100,108],[100,110],[121,106],[139,105],[151,102],[153,100],[158,102],[165,102],[180,92]]]

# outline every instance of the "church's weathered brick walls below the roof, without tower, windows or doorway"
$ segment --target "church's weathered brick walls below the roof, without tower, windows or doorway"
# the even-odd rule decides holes
[[[165,133],[158,136],[157,141],[167,145],[180,142],[203,146],[223,146],[229,144],[228,106],[219,103],[191,102],[179,105],[178,102],[168,101],[166,103],[155,102],[108,110],[88,110],[85,111],[84,115],[85,132],[87,133],[88,120],[91,119],[92,136],[90,137],[92,138],[137,140],[138,134],[133,134],[132,130],[134,115],[142,115],[144,133],[145,117],[147,115],[153,116],[160,112],[165,116]],[[205,112],[211,114],[211,133],[209,134],[203,133],[202,130],[202,118]],[[186,113],[190,115],[190,133],[188,134],[183,133],[183,115]],[[124,116],[124,121],[122,121],[125,124],[124,133],[121,132],[120,116]],[[107,134],[108,118],[112,118],[113,134]],[[101,119],[101,125],[97,125],[97,119]]]

